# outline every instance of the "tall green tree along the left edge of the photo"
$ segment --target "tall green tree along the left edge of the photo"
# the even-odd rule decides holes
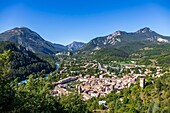
[[[14,82],[7,75],[10,73],[10,51],[0,54],[0,112],[10,112],[14,109]]]

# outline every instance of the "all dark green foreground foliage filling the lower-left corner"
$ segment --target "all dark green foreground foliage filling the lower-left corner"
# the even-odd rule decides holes
[[[6,75],[10,72],[10,51],[0,54],[0,112],[59,112],[79,113],[86,105],[77,94],[57,98],[50,94],[48,79],[29,76],[26,84],[18,84]],[[83,109],[82,109],[83,108]]]

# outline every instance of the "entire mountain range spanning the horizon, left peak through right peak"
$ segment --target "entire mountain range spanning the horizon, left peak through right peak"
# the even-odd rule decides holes
[[[96,37],[88,43],[73,41],[66,46],[44,40],[38,33],[27,27],[15,27],[0,33],[0,41],[10,41],[22,45],[34,53],[56,54],[64,51],[98,50],[107,46],[120,46],[129,42],[170,43],[169,36],[163,36],[149,27],[135,32],[115,31],[112,34]]]

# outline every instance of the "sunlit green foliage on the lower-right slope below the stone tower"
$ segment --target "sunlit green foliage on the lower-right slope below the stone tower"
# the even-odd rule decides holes
[[[87,102],[91,110],[101,109],[97,104],[106,100],[110,113],[170,113],[170,75],[147,78],[146,87],[139,82],[120,93],[113,91],[105,98],[93,98]]]

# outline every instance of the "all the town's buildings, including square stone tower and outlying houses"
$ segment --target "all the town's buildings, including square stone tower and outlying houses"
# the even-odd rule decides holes
[[[85,67],[88,67],[89,64],[86,64]],[[92,66],[96,66],[96,64],[92,64]],[[98,65],[98,68],[100,68],[101,71],[103,71],[104,68],[101,67],[101,65]],[[135,68],[134,65],[125,65],[125,68],[133,69]],[[139,70],[140,71],[140,70]],[[134,74],[133,70],[131,70],[130,74],[125,75],[121,78],[112,75],[110,77],[105,77],[107,75],[107,70],[103,71],[99,77],[96,76],[90,76],[85,75],[82,76],[81,74],[76,77],[68,77],[65,79],[62,79],[58,82],[54,82],[55,88],[51,91],[53,95],[67,95],[71,93],[67,90],[66,83],[71,81],[77,81],[79,84],[76,84],[74,89],[78,90],[78,93],[82,95],[83,100],[88,100],[93,97],[105,97],[107,94],[109,94],[112,90],[122,90],[124,88],[128,88],[131,86],[131,84],[135,84],[137,78],[140,78],[140,87],[145,87],[145,76],[151,75],[152,71],[149,69],[145,69],[145,72],[143,74]],[[161,68],[156,67],[156,73],[152,74],[152,77],[160,77],[163,76],[163,73],[161,73]]]

